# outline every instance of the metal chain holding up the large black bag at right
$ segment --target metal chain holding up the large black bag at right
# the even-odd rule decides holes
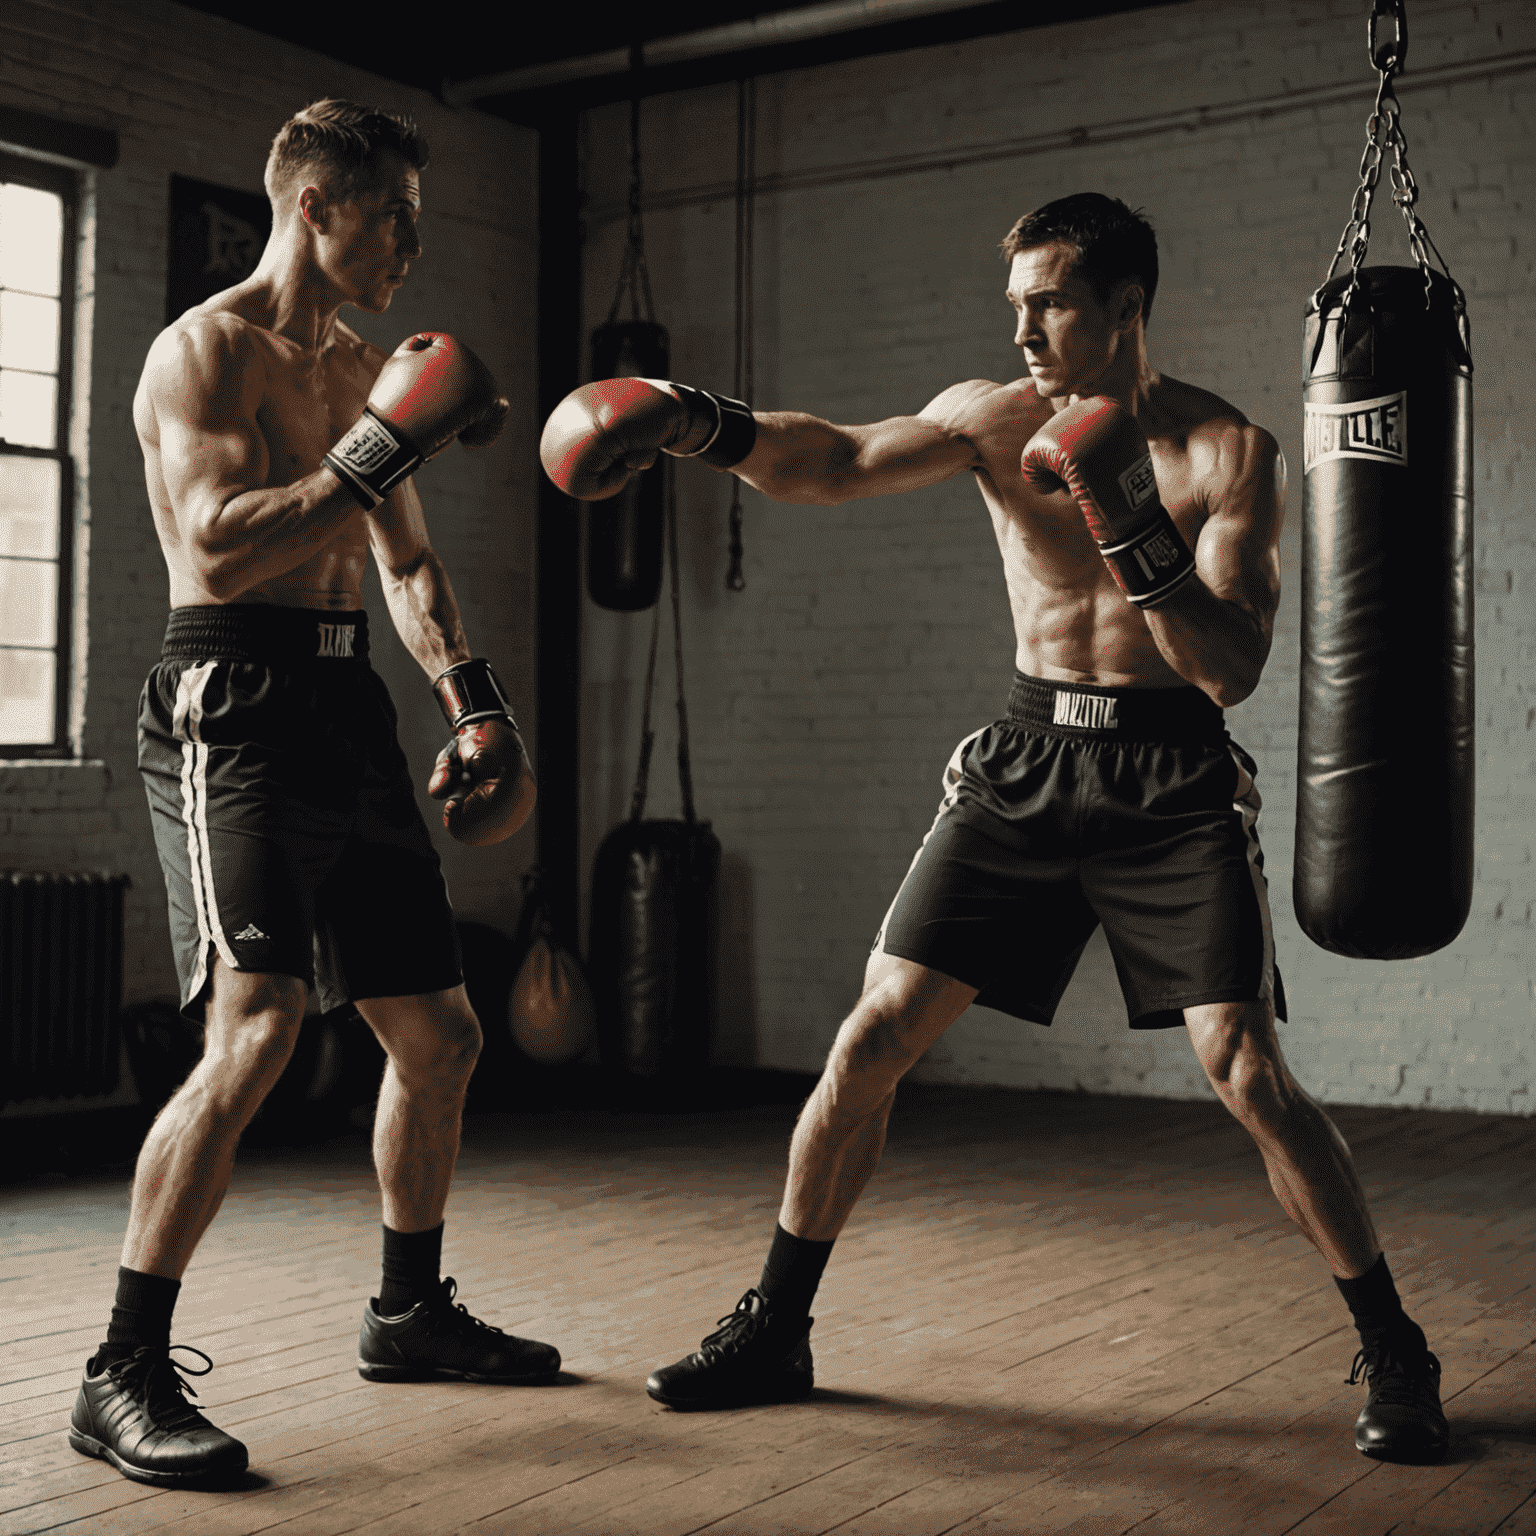
[[[1384,18],[1392,22],[1390,38],[1378,31],[1378,23]],[[1424,303],[1428,306],[1430,301],[1428,258],[1433,253],[1452,286],[1456,326],[1461,330],[1462,344],[1470,352],[1471,327],[1467,319],[1467,296],[1462,293],[1461,284],[1450,275],[1445,258],[1439,253],[1439,247],[1430,238],[1430,232],[1415,207],[1419,200],[1419,187],[1409,169],[1409,141],[1402,134],[1402,104],[1392,86],[1409,57],[1409,17],[1404,11],[1404,0],[1372,0],[1366,45],[1372,68],[1381,74],[1381,84],[1376,89],[1376,106],[1366,121],[1366,152],[1359,161],[1359,186],[1355,189],[1355,201],[1350,204],[1349,223],[1344,226],[1344,233],[1339,235],[1338,250],[1333,252],[1333,260],[1329,263],[1327,276],[1322,278],[1322,286],[1313,298],[1318,300],[1318,295],[1322,293],[1322,287],[1327,286],[1339,261],[1344,260],[1344,252],[1349,250],[1350,283],[1344,295],[1344,310],[1349,312],[1359,289],[1359,269],[1370,249],[1370,204],[1376,195],[1376,183],[1381,180],[1385,155],[1392,151],[1393,163],[1387,170],[1392,183],[1392,201],[1398,204],[1402,220],[1409,226],[1409,249],[1424,275]]]

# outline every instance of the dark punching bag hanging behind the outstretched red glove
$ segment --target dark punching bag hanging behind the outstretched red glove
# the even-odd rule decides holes
[[[671,372],[667,327],[611,319],[591,333],[591,376],[664,379]],[[662,464],[631,475],[617,496],[588,504],[587,591],[604,608],[634,613],[662,587]]]

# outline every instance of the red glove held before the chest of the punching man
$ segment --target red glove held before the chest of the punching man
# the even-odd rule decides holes
[[[1120,590],[1155,608],[1195,574],[1195,554],[1158,499],[1152,455],[1137,418],[1094,395],[1057,412],[1025,445],[1025,479],[1068,490]]]

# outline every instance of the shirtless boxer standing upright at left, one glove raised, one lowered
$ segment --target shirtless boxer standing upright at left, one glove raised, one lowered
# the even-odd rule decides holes
[[[170,573],[170,619],[140,700],[138,760],[203,1060],[134,1175],[106,1341],[71,1444],[140,1482],[247,1464],[187,1401],[169,1353],[181,1273],[229,1186],[235,1144],[293,1051],[306,998],[352,1003],[384,1046],[373,1124],[384,1279],[369,1381],[548,1381],[559,1353],[473,1318],[441,1279],[442,1213],[479,1025],[395,710],[369,667],[372,548],[390,617],[432,680],[449,745],[429,793],[467,843],[511,836],[535,786],[507,697],[472,654],[412,475],[455,438],[490,442],[507,401],[450,336],[390,356],[339,319],[372,315],[421,257],[427,146],[415,126],[316,101],[267,160],[272,238],[255,273],[164,330],[134,424]],[[177,1346],[181,1349],[183,1346]]]

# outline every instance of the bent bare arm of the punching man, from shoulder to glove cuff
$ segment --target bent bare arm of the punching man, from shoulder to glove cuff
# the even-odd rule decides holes
[[[1286,461],[1263,427],[1230,421],[1203,429],[1210,516],[1195,542],[1195,574],[1146,610],[1147,628],[1181,677],[1229,707],[1256,687],[1279,607],[1279,530]]]

